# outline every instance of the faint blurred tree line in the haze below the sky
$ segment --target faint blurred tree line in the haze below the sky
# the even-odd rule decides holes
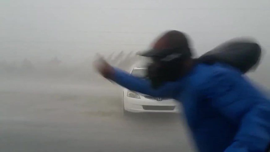
[[[98,54],[96,54],[98,55]],[[94,57],[95,58],[95,57]],[[105,59],[118,68],[128,71],[129,68],[139,61],[139,57],[133,52],[113,52]],[[54,78],[73,80],[95,80],[96,74],[92,69],[92,60],[87,59],[77,65],[67,65],[58,57],[48,62],[34,64],[29,59],[21,62],[0,62],[0,76],[4,77],[27,77],[27,78]]]

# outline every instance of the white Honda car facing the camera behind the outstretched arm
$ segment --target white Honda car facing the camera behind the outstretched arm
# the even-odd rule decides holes
[[[145,77],[145,67],[135,67],[130,74],[137,77]],[[166,112],[179,113],[180,104],[171,98],[152,97],[146,94],[123,89],[123,112]]]

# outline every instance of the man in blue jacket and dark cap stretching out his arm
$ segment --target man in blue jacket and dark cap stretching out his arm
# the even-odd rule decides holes
[[[149,80],[104,60],[98,72],[127,89],[182,102],[201,152],[265,152],[270,143],[270,102],[240,71],[192,59],[184,33],[169,31],[143,54],[152,59]]]

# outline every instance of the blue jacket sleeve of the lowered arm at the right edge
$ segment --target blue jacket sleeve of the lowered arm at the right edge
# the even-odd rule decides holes
[[[270,142],[270,105],[241,74],[214,72],[201,91],[238,132],[225,152],[265,152]]]

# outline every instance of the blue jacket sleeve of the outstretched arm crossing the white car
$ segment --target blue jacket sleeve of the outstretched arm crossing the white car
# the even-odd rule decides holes
[[[118,68],[114,68],[114,76],[111,80],[129,90],[144,93],[153,97],[172,97],[176,91],[176,84],[173,82],[168,82],[158,89],[152,89],[149,80],[132,76]]]

